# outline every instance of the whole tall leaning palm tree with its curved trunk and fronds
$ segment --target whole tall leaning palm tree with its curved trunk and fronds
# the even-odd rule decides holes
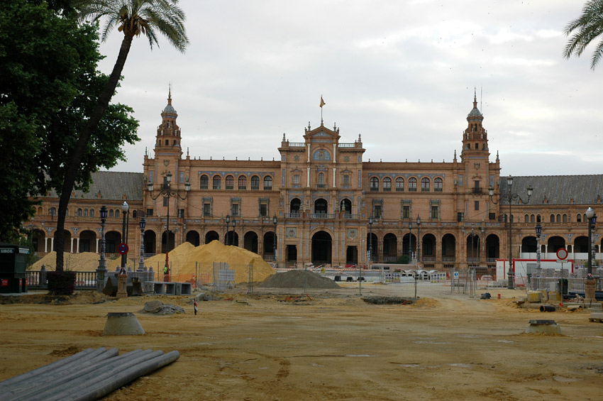
[[[59,210],[57,218],[57,234],[55,237],[57,243],[57,271],[63,270],[63,246],[64,246],[64,228],[65,212],[73,186],[75,176],[82,163],[84,150],[88,144],[96,125],[109,106],[109,101],[115,92],[123,65],[126,64],[128,53],[132,45],[134,36],[145,35],[149,40],[150,48],[157,43],[157,33],[162,34],[179,51],[184,53],[189,39],[184,29],[184,11],[177,6],[178,0],[73,0],[72,6],[79,13],[82,20],[98,21],[106,19],[106,23],[101,31],[101,40],[106,40],[107,35],[117,27],[117,30],[123,32],[121,48],[113,71],[109,76],[104,91],[99,97],[90,118],[79,136],[72,155],[69,166],[65,172],[65,181],[63,182],[61,197],[59,201]]]

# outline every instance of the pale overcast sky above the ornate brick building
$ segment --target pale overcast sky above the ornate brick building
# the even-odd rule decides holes
[[[135,38],[113,101],[132,106],[141,141],[114,171],[142,172],[172,104],[184,155],[279,159],[283,133],[362,135],[364,160],[460,155],[477,87],[490,160],[502,175],[603,173],[603,63],[562,56],[585,1],[182,0],[190,45]],[[121,42],[101,45],[109,74]]]

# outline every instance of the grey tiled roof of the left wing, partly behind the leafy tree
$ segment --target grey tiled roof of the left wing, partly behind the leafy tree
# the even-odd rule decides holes
[[[143,185],[145,175],[142,172],[98,171],[92,173],[92,184],[89,192],[75,191],[77,199],[121,200],[126,194],[127,200],[143,200]],[[49,197],[58,197],[57,192],[50,191]]]

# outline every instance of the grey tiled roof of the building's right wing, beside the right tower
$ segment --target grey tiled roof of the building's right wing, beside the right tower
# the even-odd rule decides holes
[[[528,204],[596,204],[603,198],[603,175],[528,175],[513,177],[513,192],[527,202],[527,187],[533,188]],[[501,204],[507,202],[507,177],[500,177]],[[545,201],[546,199],[546,201]],[[573,201],[572,201],[573,199]],[[515,202],[514,202],[515,204]]]

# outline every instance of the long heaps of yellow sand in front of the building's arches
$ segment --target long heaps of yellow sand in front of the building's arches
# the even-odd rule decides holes
[[[65,268],[75,271],[94,271],[99,267],[98,253],[65,253]],[[31,266],[31,270],[40,270],[45,265],[46,270],[55,270],[57,253],[50,252],[44,258],[38,260]],[[136,262],[134,263],[134,260]],[[193,275],[195,267],[198,274],[212,275],[214,262],[226,262],[232,270],[235,270],[235,282],[247,282],[248,266],[253,266],[253,281],[263,281],[275,270],[266,263],[261,256],[238,246],[225,246],[219,241],[211,241],[201,246],[193,246],[192,243],[182,243],[169,254],[172,277],[176,275]],[[128,258],[128,266],[138,267],[138,258]],[[106,260],[106,268],[116,270],[121,265],[121,258]],[[145,259],[145,266],[153,267],[155,273],[161,273],[165,265],[165,253]]]

